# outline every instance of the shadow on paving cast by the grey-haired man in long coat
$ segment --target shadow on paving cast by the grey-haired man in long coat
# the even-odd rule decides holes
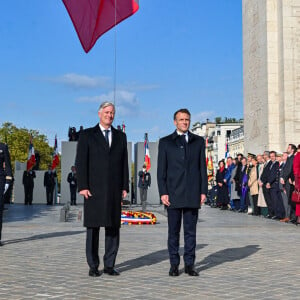
[[[196,246],[196,250],[202,249],[206,246],[207,244],[198,244]],[[180,247],[180,253],[182,252],[183,252],[183,247]],[[123,263],[116,265],[116,268],[121,272],[124,272],[124,271],[129,271],[129,270],[133,270],[145,266],[151,266],[168,259],[169,259],[169,252],[167,249],[164,249],[164,250],[159,250],[156,252],[143,255],[141,257],[124,261]]]

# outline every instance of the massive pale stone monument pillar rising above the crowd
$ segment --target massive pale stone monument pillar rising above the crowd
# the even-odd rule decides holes
[[[300,0],[243,0],[245,152],[300,144]]]

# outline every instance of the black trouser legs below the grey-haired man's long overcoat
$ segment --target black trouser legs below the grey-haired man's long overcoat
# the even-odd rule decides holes
[[[86,259],[90,269],[98,269],[99,260],[99,231],[100,227],[86,229]],[[105,227],[104,268],[113,268],[120,243],[120,228]]]

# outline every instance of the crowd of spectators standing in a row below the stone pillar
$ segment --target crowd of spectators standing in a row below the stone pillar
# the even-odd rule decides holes
[[[300,189],[300,144],[283,153],[238,154],[219,161],[216,184],[207,203],[221,210],[264,216],[300,224],[300,204],[292,201]]]

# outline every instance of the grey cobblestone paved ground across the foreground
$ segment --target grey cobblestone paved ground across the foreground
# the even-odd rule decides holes
[[[199,277],[169,277],[167,222],[124,225],[118,277],[88,276],[82,207],[10,205],[0,248],[0,299],[300,299],[300,226],[205,206],[199,214]],[[100,255],[103,255],[103,230]],[[183,265],[181,271],[183,269]]]

